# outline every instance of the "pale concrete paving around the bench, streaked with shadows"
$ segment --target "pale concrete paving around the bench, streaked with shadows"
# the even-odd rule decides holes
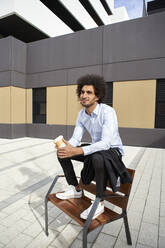
[[[165,150],[128,146],[124,150],[126,166],[136,169],[128,207],[132,247],[164,248]],[[74,164],[79,174],[82,164]],[[44,233],[44,197],[59,173],[52,140],[0,139],[0,248],[82,247],[82,228],[51,203],[49,236]],[[66,185],[59,180],[54,192]],[[88,235],[88,247],[100,246],[128,247],[122,220]]]

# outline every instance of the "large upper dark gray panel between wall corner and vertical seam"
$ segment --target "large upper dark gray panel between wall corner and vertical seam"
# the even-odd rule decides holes
[[[102,63],[102,28],[28,44],[27,72],[37,73]]]

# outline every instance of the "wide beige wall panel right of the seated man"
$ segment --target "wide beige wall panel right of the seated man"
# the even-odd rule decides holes
[[[114,82],[113,107],[120,127],[154,128],[156,80]]]

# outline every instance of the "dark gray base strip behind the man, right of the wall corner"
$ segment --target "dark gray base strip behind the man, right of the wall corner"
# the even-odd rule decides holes
[[[54,139],[63,135],[70,139],[74,126],[27,124],[27,136]],[[123,145],[165,148],[165,129],[119,128]],[[88,133],[85,133],[83,142],[91,142]]]

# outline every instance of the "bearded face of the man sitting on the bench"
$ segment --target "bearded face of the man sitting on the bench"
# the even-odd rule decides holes
[[[96,105],[98,97],[95,95],[93,85],[84,85],[80,94],[80,103],[83,107],[88,108]]]

